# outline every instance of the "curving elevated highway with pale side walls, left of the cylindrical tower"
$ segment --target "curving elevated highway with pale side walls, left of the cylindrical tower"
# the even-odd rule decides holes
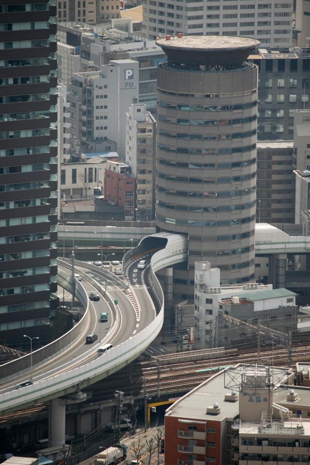
[[[179,243],[176,246],[176,243]],[[165,249],[165,250],[163,250]],[[133,276],[137,275],[135,265],[141,257],[149,257],[147,268],[148,280],[151,283],[152,295],[148,293],[144,283],[144,273],[139,277],[139,287],[133,281]],[[22,357],[16,361],[6,363],[0,367],[0,413],[12,412],[32,405],[38,401],[51,401],[50,417],[50,443],[59,444],[64,441],[64,426],[59,427],[63,422],[65,425],[65,403],[68,401],[83,400],[79,397],[80,390],[88,387],[99,379],[103,379],[110,374],[120,370],[124,365],[136,359],[158,335],[163,324],[163,292],[155,276],[155,272],[163,267],[178,263],[186,259],[185,238],[183,236],[169,233],[159,233],[158,235],[145,238],[138,247],[130,250],[124,257],[124,266],[128,281],[123,283],[123,292],[115,290],[118,297],[119,309],[124,309],[129,318],[126,320],[125,331],[120,339],[115,335],[110,341],[113,347],[108,353],[96,356],[96,350],[87,352],[75,357],[73,350],[77,338],[85,336],[85,327],[89,327],[90,304],[88,292],[77,282],[76,295],[85,307],[85,313],[79,324],[60,340],[51,343],[42,349],[33,352],[32,379],[33,384],[21,389],[15,389],[22,375],[29,373],[30,357]],[[98,283],[93,267],[91,273],[85,271],[92,285],[104,294],[104,287]],[[70,274],[62,276],[63,282],[69,287]],[[70,287],[69,287],[70,288]],[[115,295],[110,293],[110,302],[114,304]],[[150,311],[152,309],[152,311]],[[118,333],[117,326],[124,318],[122,312],[115,313],[115,327],[113,331]],[[130,324],[131,321],[131,324]],[[72,352],[71,352],[72,351]],[[71,361],[63,363],[63,356],[67,353]],[[51,370],[47,365],[51,360],[59,359],[59,365]],[[72,362],[74,360],[74,362]],[[14,383],[14,385],[12,384]],[[76,393],[74,395],[74,393]],[[63,431],[61,431],[63,430]]]

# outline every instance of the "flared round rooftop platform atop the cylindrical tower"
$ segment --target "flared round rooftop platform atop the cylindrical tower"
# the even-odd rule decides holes
[[[158,37],[156,44],[170,62],[195,67],[239,65],[247,60],[260,41],[229,35],[178,34]]]

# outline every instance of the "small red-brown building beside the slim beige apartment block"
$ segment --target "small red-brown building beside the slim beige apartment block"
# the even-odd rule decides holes
[[[124,208],[124,220],[135,220],[136,179],[122,162],[110,162],[105,171],[105,199]]]

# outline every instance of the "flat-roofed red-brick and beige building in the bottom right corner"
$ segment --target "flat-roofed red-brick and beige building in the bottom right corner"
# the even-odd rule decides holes
[[[165,463],[258,465],[308,462],[310,389],[291,368],[239,364],[166,410]]]

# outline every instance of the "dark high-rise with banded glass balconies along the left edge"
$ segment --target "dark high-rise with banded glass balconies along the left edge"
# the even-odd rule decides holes
[[[44,344],[57,303],[56,1],[1,1],[0,44],[0,341]]]

